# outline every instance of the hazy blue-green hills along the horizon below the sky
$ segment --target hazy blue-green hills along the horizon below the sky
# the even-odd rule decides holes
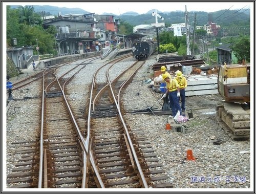
[[[65,7],[55,7],[55,6],[33,6],[35,12],[41,14],[42,11],[45,11],[46,15],[58,15],[58,12],[61,12],[61,15],[73,13],[73,14],[88,14],[91,12],[84,11],[80,8],[65,8]],[[11,6],[11,8],[18,8],[18,6]],[[155,9],[149,10],[145,14],[139,15],[136,12],[129,11],[121,15],[115,15],[113,13],[103,13],[102,15],[114,15],[122,21],[126,21],[132,26],[138,26],[141,24],[152,24],[155,23],[155,17],[152,16],[152,12],[155,12]],[[165,26],[168,27],[172,24],[185,23],[185,11],[170,11],[170,12],[157,12],[164,18]],[[211,15],[212,21],[217,23],[217,25],[224,26],[244,26],[249,25],[250,21],[250,9],[238,10],[220,10],[216,12],[207,13],[204,11],[189,11],[188,20],[189,23],[193,23],[195,13],[197,13],[197,25],[203,26],[208,23],[209,15]],[[98,13],[96,13],[98,14]],[[160,21],[159,21],[160,22]]]

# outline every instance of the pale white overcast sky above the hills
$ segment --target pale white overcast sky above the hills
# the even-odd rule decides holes
[[[66,8],[81,8],[85,11],[102,14],[113,13],[120,15],[127,11],[134,11],[139,14],[146,13],[149,10],[157,9],[164,11],[205,11],[215,12],[223,9],[239,10],[253,9],[251,2],[5,2],[7,5],[50,5]],[[47,10],[45,10],[47,11]]]

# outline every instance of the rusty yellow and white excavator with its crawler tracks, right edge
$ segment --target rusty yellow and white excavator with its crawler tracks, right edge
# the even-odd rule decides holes
[[[248,140],[250,137],[250,64],[220,66],[218,92],[224,99],[216,113],[233,140]]]

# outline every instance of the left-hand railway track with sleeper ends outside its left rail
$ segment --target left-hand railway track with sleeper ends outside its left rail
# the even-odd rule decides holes
[[[77,70],[78,67],[80,67],[79,70]],[[57,68],[51,68],[50,71],[48,69],[37,75],[38,78],[43,77],[45,83],[42,90],[44,91],[42,92],[44,103],[41,101],[43,104],[41,111],[43,124],[41,124],[41,131],[39,129],[40,123],[35,124],[37,130],[36,138],[33,141],[26,140],[13,143],[15,154],[22,156],[12,170],[13,173],[7,177],[7,184],[12,185],[11,187],[81,187],[81,171],[83,169],[82,151],[79,147],[81,143],[78,140],[77,132],[74,130],[74,123],[70,119],[71,110],[67,109],[63,92],[57,84],[57,80],[59,79],[59,82],[64,86],[69,78],[63,77],[67,74],[75,75],[83,67],[78,64],[60,78],[55,75]],[[28,78],[26,80],[30,81],[20,82],[20,88],[29,84],[31,79],[35,80]],[[44,93],[46,94],[45,98]],[[21,147],[21,149],[17,150],[17,147]],[[43,150],[43,156],[41,156],[41,150]],[[44,158],[44,166],[42,165],[42,158]],[[42,173],[44,173],[44,178],[42,178]],[[44,182],[43,186],[41,186],[42,182]]]

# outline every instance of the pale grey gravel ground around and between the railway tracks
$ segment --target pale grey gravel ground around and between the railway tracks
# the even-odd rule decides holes
[[[119,62],[118,67],[113,66],[113,71],[109,72],[111,79],[114,79],[134,61],[134,58],[130,61],[127,59],[123,62],[123,65],[121,65],[122,62]],[[89,86],[92,76],[103,62],[103,60],[92,62],[80,71],[70,84],[66,85],[68,90],[72,90],[72,93],[68,94],[71,106],[80,105],[84,107],[90,92]],[[158,99],[152,95],[151,89],[148,88],[149,84],[145,82],[145,79],[150,78],[153,74],[151,66],[154,63],[155,55],[152,55],[137,72],[134,81],[124,91],[123,104],[125,109],[144,110],[157,102]],[[67,71],[67,68],[72,66],[71,63],[70,67],[63,68],[63,71]],[[28,71],[26,75],[29,76],[32,73],[34,72]],[[60,68],[58,75],[61,74]],[[104,80],[105,76],[102,75],[101,77],[103,80],[97,80],[98,82],[106,81]],[[21,78],[22,76],[14,77],[10,81],[15,83]],[[39,85],[39,82],[31,83],[26,88],[13,91],[14,99],[24,98],[25,96],[39,96],[40,90],[36,87],[36,84]],[[158,96],[161,97],[160,94]],[[7,154],[4,156],[7,175],[11,173],[13,166],[19,159],[18,155],[11,152],[11,143],[18,139],[31,138],[35,128],[26,127],[25,121],[31,122],[32,118],[39,119],[40,115],[37,114],[39,107],[33,105],[38,100],[13,101],[7,111],[7,121],[5,121],[6,139],[4,139],[7,148]],[[250,149],[250,140],[234,141],[219,126],[215,108],[221,100],[222,98],[218,94],[186,97],[186,116],[188,116],[188,111],[192,110],[193,118],[182,124],[185,133],[165,129],[168,115],[126,114],[124,116],[127,125],[134,130],[136,136],[143,136],[151,142],[159,162],[164,166],[168,177],[167,182],[173,183],[174,188],[169,188],[169,192],[182,191],[183,189],[186,191],[187,188],[202,188],[205,191],[214,191],[212,189],[215,188],[228,188],[228,191],[232,191],[232,189],[238,191],[238,188],[241,191],[252,189],[253,182],[250,179],[253,164],[250,162],[253,161],[250,156],[253,153]],[[19,108],[15,109],[15,107]],[[161,109],[161,104],[157,103],[154,107]],[[214,144],[214,140],[217,138],[223,139],[220,145]],[[195,161],[186,160],[188,149],[193,150]],[[161,189],[159,190],[161,191]],[[159,190],[152,189],[150,192]]]

